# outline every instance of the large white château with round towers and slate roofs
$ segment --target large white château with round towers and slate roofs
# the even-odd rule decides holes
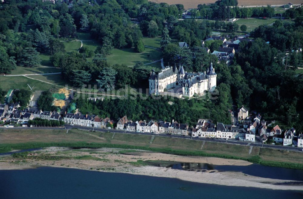
[[[203,95],[205,91],[214,91],[217,85],[217,74],[211,65],[206,72],[185,72],[183,66],[167,67],[158,75],[151,72],[149,78],[149,94],[173,95],[175,97],[192,97],[194,94]]]

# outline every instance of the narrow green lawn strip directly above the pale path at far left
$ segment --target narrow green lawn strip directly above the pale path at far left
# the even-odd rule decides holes
[[[35,73],[52,73],[52,72],[61,72],[60,68],[46,68],[46,67],[34,67],[27,68],[22,66],[17,66],[15,70],[12,70],[12,73],[9,75],[24,75],[24,74],[35,74]],[[33,76],[31,76],[33,77]]]

